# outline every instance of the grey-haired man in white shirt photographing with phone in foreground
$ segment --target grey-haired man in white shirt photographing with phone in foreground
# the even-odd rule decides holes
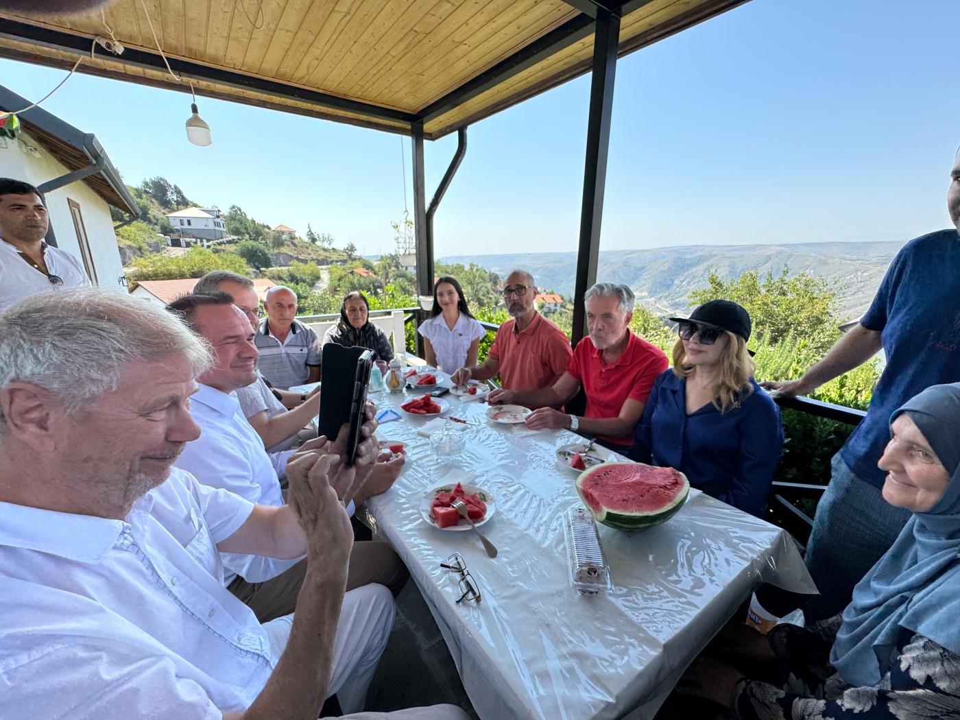
[[[378,586],[344,593],[339,498],[362,491],[375,448],[354,468],[303,452],[277,508],[172,472],[208,362],[175,318],[106,290],[0,316],[4,716],[313,720],[332,692],[362,708],[393,603]],[[304,553],[296,617],[261,626],[223,587],[228,557]]]

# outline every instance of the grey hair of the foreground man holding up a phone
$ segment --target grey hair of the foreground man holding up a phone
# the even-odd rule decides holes
[[[149,300],[114,290],[41,293],[0,314],[0,388],[12,382],[44,388],[70,415],[116,390],[128,363],[179,353],[194,376],[209,367],[206,346],[180,320]]]

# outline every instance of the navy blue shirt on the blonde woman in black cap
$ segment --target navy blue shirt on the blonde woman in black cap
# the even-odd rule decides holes
[[[677,468],[690,485],[745,513],[767,507],[780,462],[780,408],[751,378],[754,392],[721,413],[713,403],[686,414],[686,380],[660,373],[636,426],[630,457]]]

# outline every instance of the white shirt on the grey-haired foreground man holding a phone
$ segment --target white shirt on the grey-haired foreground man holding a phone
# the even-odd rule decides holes
[[[0,503],[0,706],[10,717],[220,718],[275,665],[216,543],[252,503],[188,473],[126,521]]]

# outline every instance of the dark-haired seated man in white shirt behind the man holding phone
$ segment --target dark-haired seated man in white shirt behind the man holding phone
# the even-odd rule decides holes
[[[267,453],[236,397],[236,390],[255,378],[257,350],[251,324],[223,293],[187,295],[171,302],[167,309],[179,315],[213,350],[213,363],[198,376],[197,392],[191,400],[193,418],[203,434],[184,447],[176,466],[204,485],[235,492],[251,502],[283,505],[277,469],[286,465],[293,450]],[[303,447],[316,444],[314,440]],[[402,456],[376,463],[354,501],[359,504],[372,494],[388,490],[402,463]],[[386,542],[355,543],[349,565],[348,589],[379,583],[396,596],[409,577],[406,566]],[[307,564],[301,562],[266,581],[244,572],[231,573],[226,580],[230,592],[243,600],[261,622],[267,622],[294,612],[306,569]]]

